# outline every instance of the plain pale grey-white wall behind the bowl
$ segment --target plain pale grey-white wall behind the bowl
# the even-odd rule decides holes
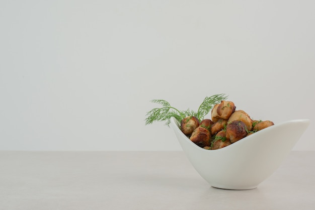
[[[0,1],[0,150],[181,150],[145,114],[229,95],[311,124],[313,1]]]

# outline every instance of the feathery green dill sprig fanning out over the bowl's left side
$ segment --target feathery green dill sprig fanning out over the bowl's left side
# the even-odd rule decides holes
[[[166,122],[165,125],[169,126],[171,118],[174,117],[178,122],[181,122],[188,116],[195,116],[199,121],[213,109],[216,103],[225,100],[227,96],[225,94],[216,94],[210,97],[205,97],[203,102],[198,108],[198,111],[192,111],[190,109],[181,111],[171,106],[171,104],[163,99],[153,99],[151,102],[160,104],[162,108],[154,108],[146,113],[145,125],[152,124],[153,122]]]

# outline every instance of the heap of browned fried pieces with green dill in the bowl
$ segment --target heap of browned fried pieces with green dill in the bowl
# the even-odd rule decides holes
[[[208,150],[229,146],[253,133],[273,126],[272,121],[253,120],[248,113],[237,110],[225,94],[206,97],[197,112],[179,111],[165,100],[152,100],[162,104],[147,113],[146,124],[166,121],[174,117],[180,122],[181,131],[196,145]],[[211,112],[211,119],[204,117]]]

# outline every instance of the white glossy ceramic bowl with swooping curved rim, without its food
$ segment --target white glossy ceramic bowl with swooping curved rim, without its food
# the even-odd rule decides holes
[[[187,138],[175,118],[170,126],[189,161],[211,186],[253,189],[281,165],[310,120],[292,120],[265,128],[227,147],[203,149]]]

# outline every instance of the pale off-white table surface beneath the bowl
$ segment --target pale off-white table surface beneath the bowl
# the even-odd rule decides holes
[[[0,151],[0,209],[315,209],[315,151],[256,189],[209,186],[183,152]]]

